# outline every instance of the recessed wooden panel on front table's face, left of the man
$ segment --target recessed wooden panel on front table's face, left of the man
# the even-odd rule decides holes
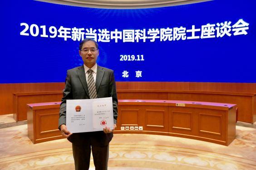
[[[49,121],[51,120],[51,121]],[[48,132],[59,132],[58,124],[52,122],[59,121],[58,113],[48,113],[39,115],[39,134]]]

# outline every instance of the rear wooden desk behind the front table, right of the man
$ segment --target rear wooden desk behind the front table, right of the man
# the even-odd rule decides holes
[[[256,122],[256,94],[192,90],[117,90],[118,99],[186,100],[237,104],[238,121]]]

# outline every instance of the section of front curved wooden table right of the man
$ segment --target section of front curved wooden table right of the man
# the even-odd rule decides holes
[[[228,146],[236,138],[236,104],[118,100],[117,122],[114,133],[185,137]],[[121,127],[143,127],[143,131],[121,131]]]

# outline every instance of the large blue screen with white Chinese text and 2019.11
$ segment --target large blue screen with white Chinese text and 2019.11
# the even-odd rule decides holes
[[[96,9],[12,0],[0,10],[0,83],[64,82],[94,38],[116,81],[256,83],[256,1]]]

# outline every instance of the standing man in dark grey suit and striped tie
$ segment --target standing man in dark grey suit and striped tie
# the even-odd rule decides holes
[[[109,142],[113,137],[113,130],[117,127],[118,99],[114,72],[96,64],[98,54],[98,43],[93,39],[86,38],[80,43],[79,55],[82,57],[84,65],[67,71],[65,89],[63,90],[63,98],[60,105],[59,129],[62,136],[67,137],[72,142],[76,170],[89,170],[91,149],[95,170],[108,169]],[[95,85],[92,85],[91,83],[94,82]],[[92,92],[91,88],[94,88],[94,92]],[[70,133],[65,125],[66,100],[104,97],[112,97],[113,100],[113,130],[105,127],[103,131],[98,132]]]

